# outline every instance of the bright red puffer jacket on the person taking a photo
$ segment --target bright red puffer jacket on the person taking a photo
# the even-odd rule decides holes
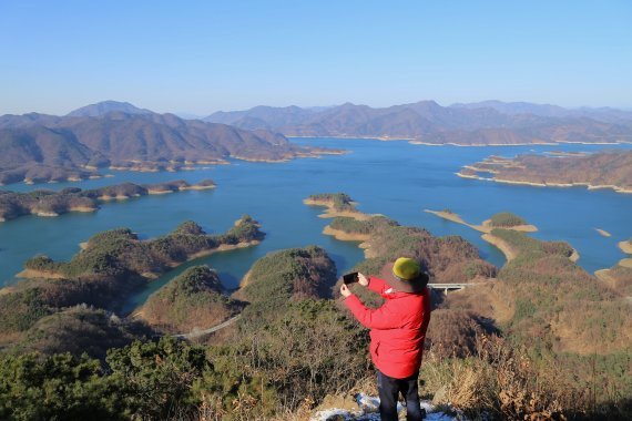
[[[430,322],[430,292],[400,292],[384,279],[369,277],[368,288],[386,298],[378,309],[367,308],[350,295],[345,304],[360,324],[371,329],[370,356],[375,367],[388,377],[405,379],[421,366],[424,340]]]

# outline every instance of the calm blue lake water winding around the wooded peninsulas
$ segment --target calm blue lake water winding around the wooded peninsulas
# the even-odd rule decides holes
[[[251,265],[268,251],[310,244],[329,251],[339,271],[363,258],[354,243],[322,234],[327,219],[318,218],[319,208],[305,206],[314,193],[345,192],[366,213],[381,213],[401,224],[421,226],[434,235],[460,235],[480,249],[483,258],[502,265],[502,254],[472,229],[442,220],[424,212],[449,208],[471,223],[480,223],[498,212],[512,212],[538,226],[532,234],[541,239],[563,239],[578,249],[580,264],[589,271],[610,267],[625,257],[616,243],[632,237],[632,195],[584,187],[544,188],[498,184],[460,178],[462,165],[489,155],[513,156],[547,151],[595,152],[603,148],[632,148],[632,145],[539,145],[539,146],[422,146],[404,141],[294,138],[299,144],[342,147],[346,155],[303,158],[266,164],[234,161],[231,165],[204,167],[181,173],[113,172],[113,177],[79,183],[11,185],[6,189],[61,189],[68,186],[92,188],[122,182],[157,183],[183,178],[195,183],[212,178],[214,191],[192,191],[145,196],[104,204],[96,213],[65,214],[55,218],[22,217],[0,224],[0,286],[16,281],[22,263],[45,254],[69,259],[79,243],[104,229],[130,227],[141,237],[165,234],[192,219],[208,233],[227,230],[241,215],[248,213],[262,223],[267,234],[255,247],[220,253],[182,266],[134,297],[129,308],[141,304],[175,274],[191,265],[216,268],[228,289],[236,288]],[[595,228],[612,234],[603,237]]]

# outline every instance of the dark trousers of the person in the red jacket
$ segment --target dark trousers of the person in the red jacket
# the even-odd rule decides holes
[[[394,379],[377,370],[377,390],[379,391],[379,418],[383,421],[397,421],[397,398],[399,392],[406,399],[406,419],[420,421],[425,418],[419,404],[417,379],[419,372],[406,378]]]

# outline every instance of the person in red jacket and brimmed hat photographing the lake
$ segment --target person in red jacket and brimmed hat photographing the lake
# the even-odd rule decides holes
[[[430,321],[429,277],[418,260],[407,257],[386,264],[381,276],[384,279],[358,274],[358,284],[386,299],[378,309],[367,308],[345,284],[340,294],[355,318],[371,329],[370,356],[377,370],[380,419],[397,420],[401,392],[406,419],[422,420],[426,411],[420,408],[417,382]]]

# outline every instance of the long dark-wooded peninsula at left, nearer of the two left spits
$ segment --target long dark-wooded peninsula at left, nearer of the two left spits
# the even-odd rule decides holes
[[[0,294],[0,345],[17,341],[64,308],[85,304],[119,310],[131,294],[187,260],[252,247],[263,238],[259,224],[244,215],[224,234],[208,235],[191,220],[152,239],[118,228],[92,236],[69,261],[35,256],[19,274],[26,279]]]

